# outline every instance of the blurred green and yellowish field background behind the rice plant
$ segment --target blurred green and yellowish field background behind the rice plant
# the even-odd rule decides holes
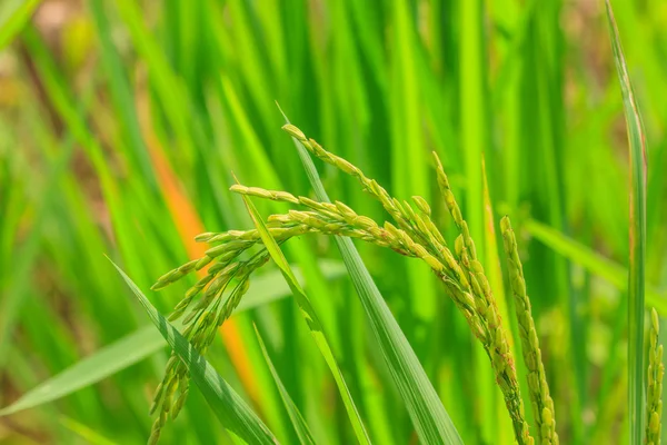
[[[647,134],[647,298],[667,316],[667,2],[613,4]],[[427,198],[454,239],[430,165],[437,151],[505,300],[485,159],[492,221],[508,214],[519,235],[561,443],[619,443],[628,160],[597,0],[3,0],[0,406],[149,325],[104,254],[167,314],[195,278],[148,289],[202,255],[193,236],[251,227],[228,191],[231,171],[311,195],[275,101],[391,194]],[[387,219],[351,178],[318,167],[332,198]],[[265,216],[286,210],[257,204]],[[290,244],[371,437],[416,443],[331,239]],[[417,261],[358,247],[464,441],[514,443],[488,360],[444,288]],[[287,295],[269,273],[250,294],[270,291]],[[209,354],[217,370],[295,443],[253,323],[316,437],[351,443],[291,299],[235,316]],[[0,417],[0,443],[143,443],[169,353],[159,345],[99,383]],[[163,443],[229,441],[197,390],[162,433]]]

